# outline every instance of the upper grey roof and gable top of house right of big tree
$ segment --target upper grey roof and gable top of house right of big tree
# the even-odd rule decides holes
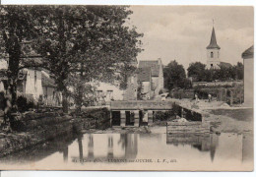
[[[160,65],[158,60],[141,60],[138,68],[151,68],[152,77],[159,77]]]

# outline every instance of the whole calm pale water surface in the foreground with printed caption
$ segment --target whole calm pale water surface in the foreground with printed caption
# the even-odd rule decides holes
[[[253,165],[253,138],[153,134],[85,134],[65,137],[0,159],[1,168],[239,170]]]

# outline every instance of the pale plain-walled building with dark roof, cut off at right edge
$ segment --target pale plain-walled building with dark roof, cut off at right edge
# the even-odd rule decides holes
[[[244,105],[253,107],[253,57],[254,57],[254,46],[245,50],[242,53],[243,58],[243,87],[244,87]]]

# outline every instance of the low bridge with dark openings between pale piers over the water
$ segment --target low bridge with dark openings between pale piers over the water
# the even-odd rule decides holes
[[[176,113],[190,121],[204,121],[204,116],[200,110],[195,110],[181,105],[175,100],[132,100],[132,101],[111,101],[110,124],[111,126],[151,126],[153,116],[158,111],[170,111],[176,105]]]

